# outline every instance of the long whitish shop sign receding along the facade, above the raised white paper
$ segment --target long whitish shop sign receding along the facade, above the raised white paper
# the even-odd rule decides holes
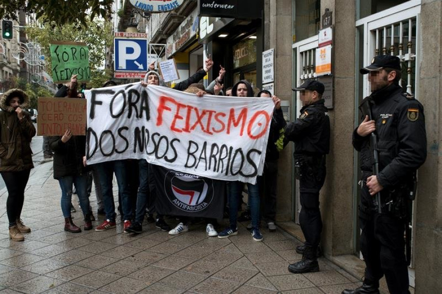
[[[179,51],[187,44],[198,31],[198,11],[193,12],[181,23],[175,32],[167,38],[166,54],[167,58]],[[196,41],[196,39],[195,39]]]

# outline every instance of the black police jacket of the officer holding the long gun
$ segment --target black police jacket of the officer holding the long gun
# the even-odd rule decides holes
[[[378,182],[384,188],[405,184],[427,156],[425,117],[423,106],[414,98],[402,94],[399,85],[391,84],[373,92],[372,114],[376,122],[379,152]],[[373,151],[370,136],[361,137],[353,132],[353,146],[360,152],[362,178],[372,175]]]

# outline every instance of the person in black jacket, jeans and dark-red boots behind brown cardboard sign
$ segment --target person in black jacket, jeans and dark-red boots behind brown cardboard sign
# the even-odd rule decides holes
[[[77,75],[71,77],[67,86],[61,87],[55,97],[78,98]],[[52,136],[49,146],[54,152],[54,179],[61,188],[61,211],[64,216],[64,230],[80,233],[80,227],[74,224],[71,216],[72,185],[76,188],[80,207],[84,215],[84,230],[92,229],[91,210],[87,197],[87,172],[85,168],[86,136],[73,135],[67,129],[62,136]]]

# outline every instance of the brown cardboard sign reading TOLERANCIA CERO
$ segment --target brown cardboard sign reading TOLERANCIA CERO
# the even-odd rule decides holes
[[[78,98],[38,97],[37,135],[86,134],[86,100]]]

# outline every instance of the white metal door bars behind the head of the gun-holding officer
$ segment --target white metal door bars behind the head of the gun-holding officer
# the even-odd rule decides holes
[[[415,93],[416,17],[372,30],[376,38],[375,55],[390,54],[401,59],[401,86]]]

